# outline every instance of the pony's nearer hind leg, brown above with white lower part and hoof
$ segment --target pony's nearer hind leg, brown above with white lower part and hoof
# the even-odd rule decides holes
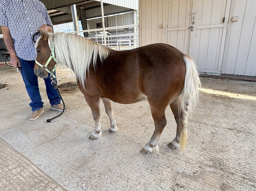
[[[152,151],[155,151],[156,153],[159,152],[157,142],[163,131],[163,128],[166,125],[166,118],[164,113],[165,108],[166,107],[159,108],[159,107],[153,107],[152,105],[150,105],[151,114],[155,124],[155,130],[150,140],[148,141],[148,143],[140,150],[141,153],[149,154]]]

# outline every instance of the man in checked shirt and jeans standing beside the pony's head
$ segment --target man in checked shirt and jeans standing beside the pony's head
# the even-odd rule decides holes
[[[10,63],[19,68],[35,120],[43,112],[43,102],[38,88],[37,76],[34,74],[36,50],[32,36],[38,30],[52,32],[52,23],[46,7],[39,0],[0,0],[0,26],[5,45],[10,53]],[[55,75],[55,72],[54,72]],[[49,76],[49,75],[48,75]],[[49,77],[44,79],[46,93],[51,109],[63,110],[58,92],[51,85]],[[65,111],[68,108],[65,107]]]

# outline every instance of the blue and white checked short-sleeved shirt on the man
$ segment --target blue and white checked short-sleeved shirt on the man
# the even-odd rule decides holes
[[[0,26],[9,27],[19,58],[35,60],[36,51],[32,36],[42,25],[52,26],[52,23],[41,1],[0,0]]]

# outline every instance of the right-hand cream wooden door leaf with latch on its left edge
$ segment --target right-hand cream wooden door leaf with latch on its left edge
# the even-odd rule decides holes
[[[220,75],[231,0],[193,0],[189,55],[202,74]]]

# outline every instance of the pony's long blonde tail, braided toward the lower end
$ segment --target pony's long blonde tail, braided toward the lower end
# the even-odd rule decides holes
[[[182,120],[184,125],[182,133],[180,135],[179,143],[179,148],[182,152],[185,150],[187,141],[187,117],[196,108],[197,101],[199,98],[199,88],[201,87],[199,74],[193,58],[189,57],[188,55],[183,55],[183,61],[186,67],[186,75],[184,87],[181,92],[182,100],[179,108],[179,111],[181,113],[183,111]]]

